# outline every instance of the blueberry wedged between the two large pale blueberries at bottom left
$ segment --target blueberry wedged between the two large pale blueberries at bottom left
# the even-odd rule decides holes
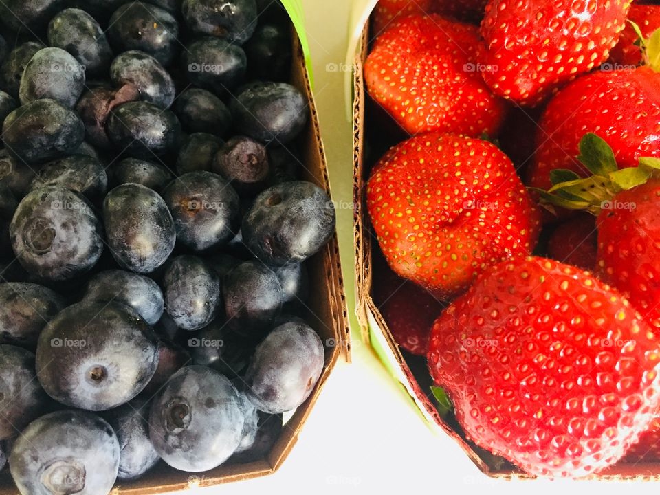
[[[160,460],[149,439],[149,403],[133,399],[128,404],[109,412],[108,422],[115,430],[121,454],[117,478],[139,478]]]

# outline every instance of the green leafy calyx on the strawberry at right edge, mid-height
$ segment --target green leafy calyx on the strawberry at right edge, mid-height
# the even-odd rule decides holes
[[[580,140],[577,159],[593,175],[584,178],[572,170],[552,170],[549,190],[529,188],[538,193],[542,207],[551,212],[559,206],[598,215],[619,192],[646,184],[651,177],[660,175],[660,158],[652,157],[640,158],[637,167],[619,170],[612,148],[594,133],[587,133]]]

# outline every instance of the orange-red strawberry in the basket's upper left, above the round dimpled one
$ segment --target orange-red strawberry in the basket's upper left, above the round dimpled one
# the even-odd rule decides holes
[[[410,134],[495,135],[505,103],[478,72],[478,28],[437,15],[397,21],[378,37],[364,65],[371,98]]]

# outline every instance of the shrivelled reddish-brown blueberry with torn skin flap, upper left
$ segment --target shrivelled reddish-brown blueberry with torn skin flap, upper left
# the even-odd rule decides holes
[[[106,130],[106,123],[113,109],[121,104],[140,99],[140,91],[133,85],[124,85],[120,89],[94,87],[80,97],[76,111],[85,124],[87,139],[94,146],[109,149],[113,146]]]

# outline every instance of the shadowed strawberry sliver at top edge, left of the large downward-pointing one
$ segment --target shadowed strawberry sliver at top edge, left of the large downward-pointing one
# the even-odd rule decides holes
[[[481,21],[486,3],[487,0],[380,0],[373,11],[374,34],[378,36],[396,19],[412,14],[443,14],[461,21]]]

